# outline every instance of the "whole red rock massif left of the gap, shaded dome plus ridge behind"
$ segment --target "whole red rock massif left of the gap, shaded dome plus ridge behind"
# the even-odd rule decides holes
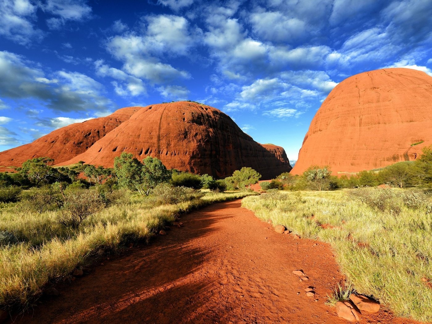
[[[112,167],[114,157],[120,156],[122,152],[129,152],[140,160],[147,156],[156,157],[167,168],[197,174],[207,173],[221,178],[232,175],[232,172],[244,166],[257,170],[263,179],[274,178],[291,170],[282,147],[255,142],[229,116],[216,108],[193,102],[174,102],[123,109],[130,114],[125,116],[125,121],[119,121],[111,131],[103,133],[97,140],[89,141],[85,146],[85,135],[90,130],[87,127],[86,131],[83,131],[79,125],[83,127],[86,123],[101,118],[69,126],[74,127],[70,130],[76,132],[75,144],[81,141],[83,143],[80,143],[79,149],[71,145],[73,149],[69,149],[67,159],[61,159],[60,154],[55,155],[52,150],[48,152],[39,144],[46,143],[45,141],[52,138],[51,134],[60,131],[58,130],[46,135],[44,140],[39,139],[27,144],[25,149],[29,154],[21,159],[20,163],[32,157],[50,156],[57,165],[84,161],[87,164]],[[111,120],[113,115],[105,118]],[[91,133],[95,131],[97,132],[97,128]],[[56,140],[64,143],[67,139],[59,133]],[[9,151],[18,149],[20,148]],[[63,149],[63,154],[66,154],[67,150]],[[0,153],[0,161],[8,161],[4,157],[9,156],[9,151]],[[2,162],[3,165],[20,164],[16,163],[16,158],[12,161],[15,164],[6,162]]]

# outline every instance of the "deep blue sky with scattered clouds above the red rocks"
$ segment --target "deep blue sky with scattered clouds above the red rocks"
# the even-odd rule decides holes
[[[0,0],[0,150],[127,106],[192,100],[297,159],[357,73],[432,75],[431,0]]]

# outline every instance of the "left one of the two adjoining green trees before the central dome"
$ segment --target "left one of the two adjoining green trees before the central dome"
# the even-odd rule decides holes
[[[143,165],[132,154],[123,152],[114,158],[114,171],[118,178],[118,185],[130,190],[138,190],[142,183],[141,172]]]

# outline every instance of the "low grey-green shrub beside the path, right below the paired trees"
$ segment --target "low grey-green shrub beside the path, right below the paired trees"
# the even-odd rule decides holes
[[[171,184],[159,184],[153,191],[152,196],[156,203],[169,205],[180,203],[182,201],[190,201],[196,198],[203,197],[203,193],[187,187],[175,187]]]

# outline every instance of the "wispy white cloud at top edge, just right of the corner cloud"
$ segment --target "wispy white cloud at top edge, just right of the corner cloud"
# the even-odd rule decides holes
[[[47,19],[50,29],[60,29],[67,21],[83,21],[92,13],[85,0],[47,0],[42,9],[56,16]]]

